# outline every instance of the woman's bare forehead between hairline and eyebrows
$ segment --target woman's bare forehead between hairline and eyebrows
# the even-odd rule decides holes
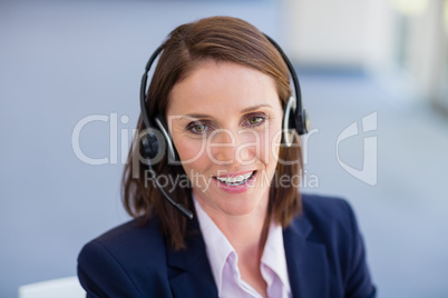
[[[250,67],[210,60],[173,87],[167,113],[213,116],[261,105],[281,106],[271,77]]]

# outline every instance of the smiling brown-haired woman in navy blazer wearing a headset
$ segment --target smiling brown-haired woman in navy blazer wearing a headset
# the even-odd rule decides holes
[[[176,28],[160,50],[142,88],[138,130],[152,131],[123,180],[135,219],[84,247],[88,297],[374,297],[349,205],[292,182],[300,139],[282,133],[292,90],[274,44],[215,17]]]

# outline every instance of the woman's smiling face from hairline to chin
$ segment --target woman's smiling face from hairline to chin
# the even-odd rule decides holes
[[[274,80],[236,63],[201,62],[174,86],[168,128],[212,218],[265,215],[282,113]]]

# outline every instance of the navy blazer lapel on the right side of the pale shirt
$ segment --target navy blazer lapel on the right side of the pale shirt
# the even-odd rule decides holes
[[[293,297],[329,297],[325,248],[306,239],[311,230],[311,224],[302,216],[283,231]]]

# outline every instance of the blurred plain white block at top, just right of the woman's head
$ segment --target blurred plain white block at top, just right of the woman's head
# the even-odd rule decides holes
[[[396,30],[389,0],[283,0],[286,44],[304,66],[382,70]]]

